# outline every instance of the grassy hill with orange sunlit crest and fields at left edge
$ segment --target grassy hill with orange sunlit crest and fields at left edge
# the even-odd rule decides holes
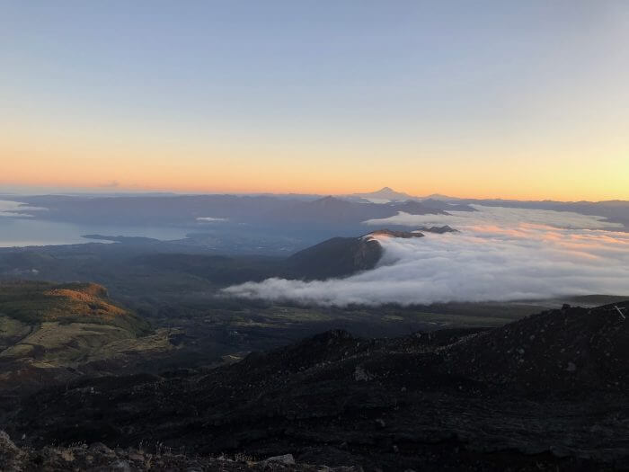
[[[111,375],[169,352],[170,332],[94,283],[0,283],[0,391]]]

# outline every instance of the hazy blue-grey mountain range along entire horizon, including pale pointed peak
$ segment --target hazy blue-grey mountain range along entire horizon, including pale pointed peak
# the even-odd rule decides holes
[[[397,211],[412,214],[444,214],[447,211],[474,211],[472,205],[522,209],[553,209],[598,215],[629,227],[629,202],[607,201],[525,201],[458,199],[433,195],[418,199],[383,189],[378,195],[389,195],[390,201],[379,203],[357,200],[359,197],[319,197],[291,195],[135,195],[135,196],[17,196],[3,198],[25,202],[40,209],[27,212],[36,218],[73,223],[111,225],[165,225],[199,227],[197,218],[223,218],[222,225],[246,223],[257,227],[285,229],[297,223],[308,228],[356,229],[363,221],[389,218]],[[368,195],[368,194],[365,194]],[[388,199],[381,199],[388,200]],[[326,226],[327,225],[327,226]]]

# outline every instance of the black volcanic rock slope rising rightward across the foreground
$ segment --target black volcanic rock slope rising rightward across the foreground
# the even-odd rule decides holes
[[[335,331],[217,370],[51,388],[7,426],[35,443],[164,441],[367,470],[626,468],[627,336],[614,307],[388,340]]]

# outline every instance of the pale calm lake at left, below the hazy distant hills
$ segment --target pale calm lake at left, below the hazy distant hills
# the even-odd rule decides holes
[[[26,245],[74,245],[93,243],[82,235],[145,236],[171,240],[185,237],[190,230],[176,227],[120,227],[108,225],[75,225],[34,218],[0,216],[0,247]]]

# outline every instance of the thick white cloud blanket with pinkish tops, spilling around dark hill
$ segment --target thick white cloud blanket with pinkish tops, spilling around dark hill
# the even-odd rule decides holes
[[[384,255],[368,272],[328,281],[268,279],[224,292],[340,307],[629,294],[629,233],[618,231],[622,225],[563,211],[476,209],[368,221],[372,227],[447,224],[460,230],[377,236]]]

